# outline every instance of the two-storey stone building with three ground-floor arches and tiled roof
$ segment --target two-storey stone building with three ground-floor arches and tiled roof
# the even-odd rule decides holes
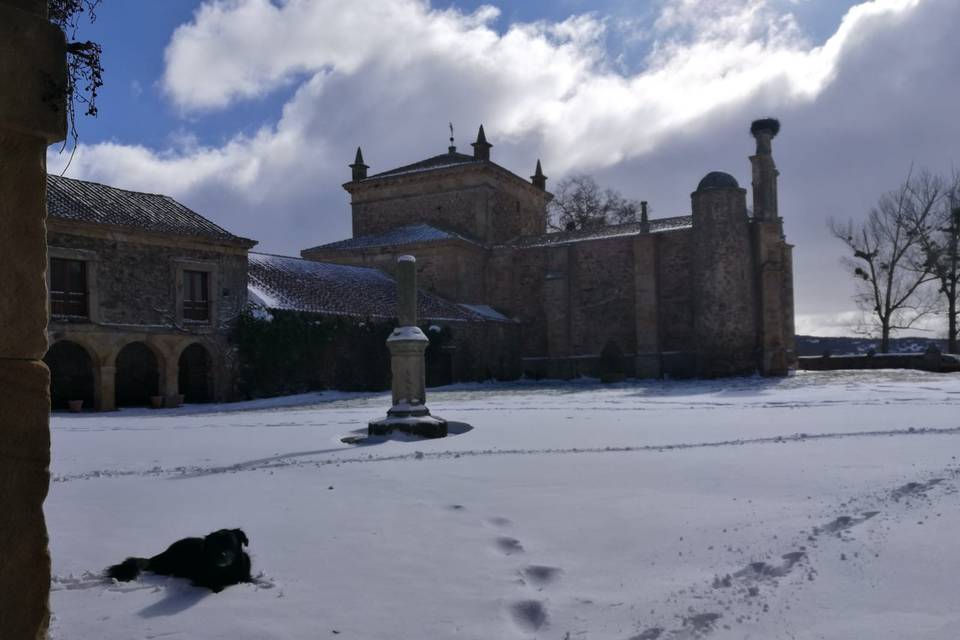
[[[232,395],[247,252],[172,198],[47,178],[51,404],[101,410]]]

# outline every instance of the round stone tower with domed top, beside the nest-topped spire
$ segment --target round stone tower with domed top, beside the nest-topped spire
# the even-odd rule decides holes
[[[753,256],[747,191],[708,173],[691,194],[693,333],[704,376],[756,371]]]

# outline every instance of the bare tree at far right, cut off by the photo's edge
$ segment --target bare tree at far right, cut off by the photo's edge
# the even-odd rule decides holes
[[[939,179],[938,179],[939,181]],[[929,190],[931,180],[926,181]],[[924,185],[921,185],[924,186]],[[939,181],[943,196],[927,220],[917,221],[923,268],[938,285],[947,316],[947,350],[957,353],[958,294],[960,294],[960,172]]]

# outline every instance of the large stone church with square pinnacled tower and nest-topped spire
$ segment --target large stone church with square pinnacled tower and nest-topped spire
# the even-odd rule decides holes
[[[309,260],[390,271],[417,257],[433,293],[514,319],[519,351],[491,342],[528,375],[598,373],[601,351],[642,377],[785,375],[795,366],[791,245],[777,211],[771,141],[751,133],[753,212],[722,172],[691,194],[690,215],[547,233],[552,198],[493,162],[483,127],[473,153],[447,153],[368,175],[361,151],[344,184],[353,237],[305,249]]]

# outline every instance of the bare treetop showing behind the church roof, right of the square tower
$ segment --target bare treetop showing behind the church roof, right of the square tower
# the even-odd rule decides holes
[[[637,221],[640,203],[614,189],[603,189],[592,176],[578,173],[557,184],[547,215],[552,229],[590,229]]]

